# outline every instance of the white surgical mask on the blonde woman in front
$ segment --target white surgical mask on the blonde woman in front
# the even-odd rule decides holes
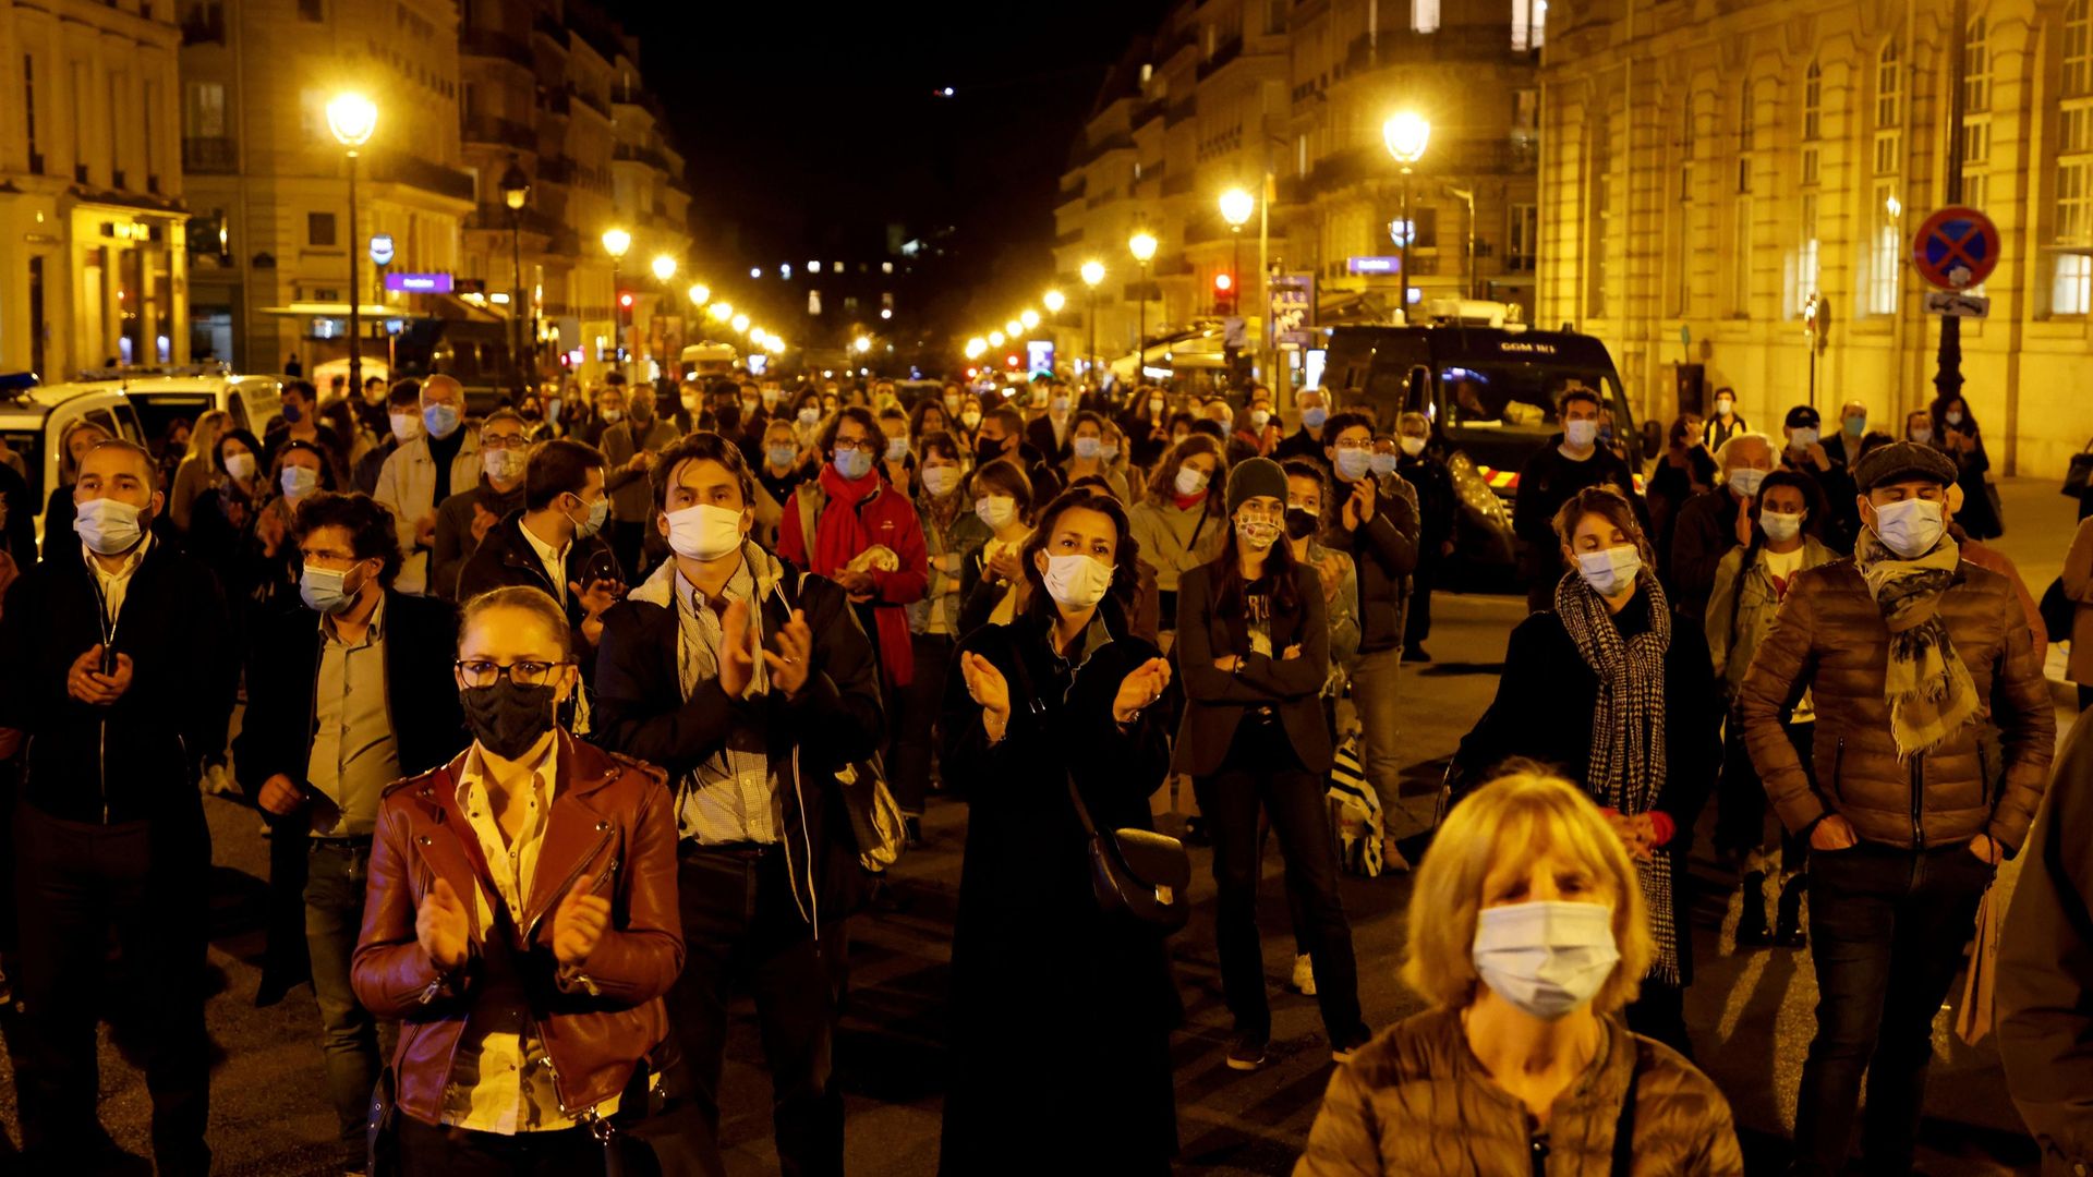
[[[1534,901],[1476,913],[1476,972],[1515,1009],[1553,1022],[1597,997],[1620,963],[1614,909]]]

